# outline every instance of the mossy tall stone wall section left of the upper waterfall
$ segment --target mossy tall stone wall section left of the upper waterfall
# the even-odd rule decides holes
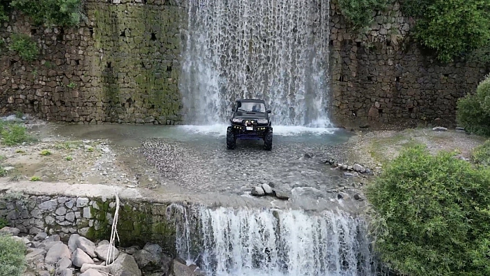
[[[185,12],[175,1],[87,0],[79,28],[40,28],[14,12],[0,28],[26,33],[42,46],[24,62],[0,50],[0,112],[33,113],[69,122],[180,120],[179,26]]]

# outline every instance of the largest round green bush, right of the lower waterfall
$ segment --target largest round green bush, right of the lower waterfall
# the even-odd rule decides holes
[[[401,151],[368,186],[376,250],[403,275],[490,275],[489,190],[489,168]]]

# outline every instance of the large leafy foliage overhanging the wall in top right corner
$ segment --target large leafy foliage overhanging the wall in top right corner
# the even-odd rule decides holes
[[[487,0],[406,0],[403,12],[416,19],[417,41],[436,50],[442,62],[490,45]]]

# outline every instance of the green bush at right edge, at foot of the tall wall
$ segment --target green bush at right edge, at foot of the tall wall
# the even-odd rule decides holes
[[[457,101],[456,121],[467,131],[490,135],[490,75],[480,82],[476,93]]]

